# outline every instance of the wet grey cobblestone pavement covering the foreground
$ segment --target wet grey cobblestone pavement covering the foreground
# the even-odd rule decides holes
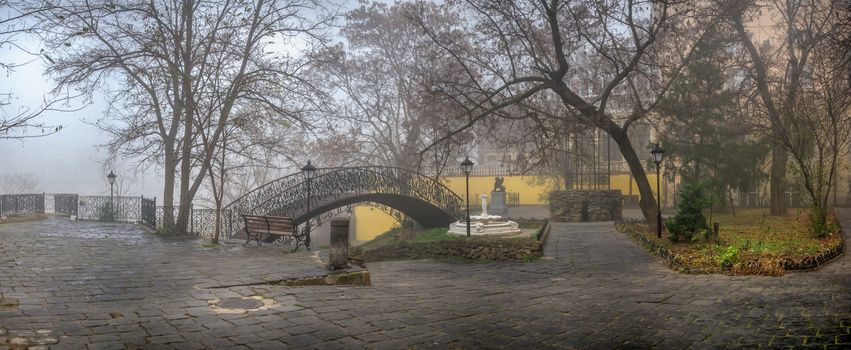
[[[320,271],[308,253],[201,243],[0,225],[0,349],[851,347],[847,255],[780,278],[682,275],[611,223],[556,224],[534,263],[382,262],[373,287],[212,288]],[[209,306],[240,296],[267,304]]]

